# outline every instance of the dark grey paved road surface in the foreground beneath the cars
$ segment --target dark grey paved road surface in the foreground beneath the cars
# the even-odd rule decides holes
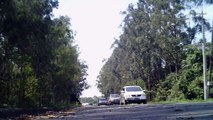
[[[213,120],[213,103],[81,107],[55,120]]]

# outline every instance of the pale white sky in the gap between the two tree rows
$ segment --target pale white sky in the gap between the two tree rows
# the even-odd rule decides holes
[[[131,2],[130,2],[131,1]],[[82,97],[101,96],[96,86],[102,60],[109,58],[114,38],[121,33],[119,25],[124,18],[120,14],[130,3],[138,0],[59,0],[55,17],[66,15],[71,18],[72,29],[76,31],[75,43],[79,47],[79,59],[86,61],[91,86],[83,91]]]

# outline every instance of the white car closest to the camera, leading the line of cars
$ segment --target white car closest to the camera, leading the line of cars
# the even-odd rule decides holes
[[[124,86],[120,94],[120,104],[147,103],[146,94],[140,86]]]

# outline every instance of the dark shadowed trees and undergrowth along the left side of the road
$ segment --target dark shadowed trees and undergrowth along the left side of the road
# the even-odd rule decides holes
[[[57,6],[0,1],[0,107],[68,105],[88,87],[69,18],[53,18]]]

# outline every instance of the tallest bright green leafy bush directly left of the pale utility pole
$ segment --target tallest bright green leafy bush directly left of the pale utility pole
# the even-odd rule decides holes
[[[187,57],[183,60],[179,87],[186,99],[202,99],[202,51],[196,46],[192,48],[188,49]]]

